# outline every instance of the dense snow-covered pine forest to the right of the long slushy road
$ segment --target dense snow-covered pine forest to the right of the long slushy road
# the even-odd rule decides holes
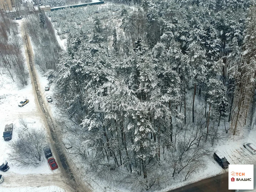
[[[82,174],[133,191],[188,179],[255,118],[255,2],[140,3],[51,12],[66,50],[49,39],[37,63],[53,57],[41,68]],[[53,34],[44,14],[34,19],[30,29]]]

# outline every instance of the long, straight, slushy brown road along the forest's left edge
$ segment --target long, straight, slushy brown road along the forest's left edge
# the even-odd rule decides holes
[[[42,118],[44,120],[45,126],[48,129],[48,134],[50,136],[50,142],[52,145],[52,151],[56,157],[57,163],[61,172],[64,176],[64,182],[71,187],[71,191],[77,192],[89,192],[90,190],[80,182],[79,178],[74,174],[72,167],[69,165],[69,162],[66,158],[62,145],[60,144],[59,134],[57,133],[56,126],[54,120],[52,118],[51,112],[46,108],[44,99],[42,97],[42,93],[40,91],[40,84],[38,81],[37,71],[34,66],[33,59],[33,50],[31,48],[29,36],[26,33],[22,26],[22,36],[25,42],[25,50],[27,56],[27,62],[29,67],[29,73],[32,81],[32,86],[36,98],[36,103],[39,111],[42,113]]]

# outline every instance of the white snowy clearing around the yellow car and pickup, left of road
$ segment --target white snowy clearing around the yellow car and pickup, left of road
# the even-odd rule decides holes
[[[35,97],[33,94],[32,86],[29,84],[24,89],[16,87],[14,82],[12,82],[5,74],[3,74],[0,80],[0,97],[1,97],[1,111],[0,111],[0,124],[1,132],[4,131],[5,125],[13,123],[13,137],[10,141],[4,141],[2,138],[0,140],[0,163],[7,161],[10,169],[5,175],[9,173],[18,173],[18,174],[28,174],[28,173],[44,173],[51,174],[51,170],[48,167],[47,161],[42,163],[41,166],[35,169],[20,169],[19,167],[13,165],[12,162],[8,161],[9,150],[8,144],[15,140],[18,135],[19,130],[29,129],[34,127],[36,129],[45,129],[40,118],[40,113],[37,110]],[[29,99],[29,103],[23,107],[19,107],[18,103],[23,99]],[[20,123],[20,119],[23,118],[27,123],[27,127],[24,127]],[[2,134],[2,133],[1,133]],[[45,159],[44,159],[45,160]]]

